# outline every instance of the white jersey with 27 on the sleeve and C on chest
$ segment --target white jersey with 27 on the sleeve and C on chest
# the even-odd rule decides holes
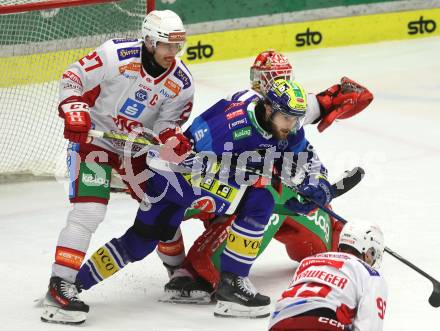
[[[60,83],[60,104],[84,101],[90,107],[92,128],[130,133],[138,127],[158,134],[181,126],[189,117],[194,83],[189,70],[176,58],[159,77],[141,64],[141,39],[112,39],[72,64]],[[94,138],[94,145],[118,154],[118,141]]]

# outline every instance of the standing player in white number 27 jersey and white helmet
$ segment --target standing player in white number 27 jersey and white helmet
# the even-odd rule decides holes
[[[118,171],[140,200],[145,156],[124,155],[124,145],[94,138],[96,129],[130,133],[147,128],[177,155],[191,145],[180,132],[193,105],[194,84],[179,56],[186,32],[170,10],[152,11],[142,23],[142,39],[112,39],[73,63],[60,82],[59,115],[70,141],[68,170],[72,209],[61,230],[41,319],[75,324],[86,319],[88,305],[74,284],[92,233],[104,219],[111,171]],[[128,155],[127,155],[128,154]]]

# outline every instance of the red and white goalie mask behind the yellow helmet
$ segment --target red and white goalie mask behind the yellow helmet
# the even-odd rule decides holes
[[[252,89],[266,95],[275,78],[292,80],[292,65],[283,54],[269,49],[258,54],[251,67]]]

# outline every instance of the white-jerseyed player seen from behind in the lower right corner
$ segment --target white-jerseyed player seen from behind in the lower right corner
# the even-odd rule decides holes
[[[301,261],[272,313],[270,331],[381,331],[387,286],[377,271],[384,252],[377,226],[346,224],[339,251]]]

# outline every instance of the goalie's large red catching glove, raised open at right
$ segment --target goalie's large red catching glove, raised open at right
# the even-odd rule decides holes
[[[373,94],[367,88],[347,77],[341,78],[341,84],[333,85],[316,96],[321,108],[319,132],[327,129],[335,119],[345,119],[365,109]]]

